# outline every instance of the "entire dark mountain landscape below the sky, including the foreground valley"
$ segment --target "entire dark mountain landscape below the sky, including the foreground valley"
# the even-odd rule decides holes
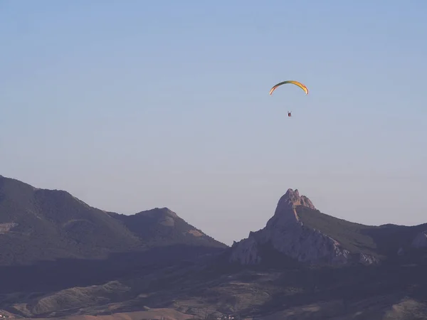
[[[0,314],[12,317],[427,319],[426,253],[427,224],[352,223],[293,189],[228,247],[169,208],[106,212],[0,176]]]

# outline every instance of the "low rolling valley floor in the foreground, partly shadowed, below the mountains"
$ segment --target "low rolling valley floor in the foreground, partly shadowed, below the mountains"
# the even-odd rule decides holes
[[[423,274],[421,265],[225,273],[169,267],[102,285],[21,295],[18,303],[19,295],[7,295],[0,308],[27,319],[427,319]]]

